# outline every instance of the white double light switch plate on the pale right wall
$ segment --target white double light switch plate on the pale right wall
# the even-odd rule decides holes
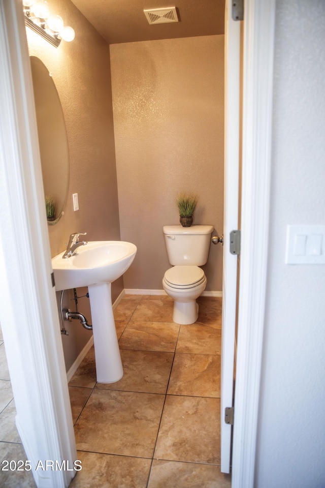
[[[288,225],[286,264],[325,264],[325,225]]]

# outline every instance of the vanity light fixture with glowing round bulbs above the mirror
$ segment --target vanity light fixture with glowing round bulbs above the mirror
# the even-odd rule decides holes
[[[53,46],[58,47],[61,39],[73,41],[75,31],[66,25],[62,17],[50,14],[50,9],[45,0],[23,0],[25,25],[42,36]]]

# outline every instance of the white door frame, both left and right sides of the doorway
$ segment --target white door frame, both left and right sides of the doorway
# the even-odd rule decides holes
[[[242,249],[233,488],[254,465],[267,276],[275,0],[244,6]],[[1,317],[27,456],[76,459],[43,200],[28,50],[19,0],[0,0]],[[32,114],[32,115],[31,115]],[[29,425],[29,426],[28,426]],[[38,472],[68,486],[72,472]]]

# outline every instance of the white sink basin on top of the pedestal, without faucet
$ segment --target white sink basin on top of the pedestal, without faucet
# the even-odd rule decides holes
[[[58,254],[52,259],[55,290],[112,283],[127,270],[136,252],[131,242],[99,240],[80,246],[70,258]]]

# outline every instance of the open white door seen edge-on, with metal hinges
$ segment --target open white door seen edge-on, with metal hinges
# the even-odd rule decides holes
[[[225,123],[224,224],[221,341],[221,472],[231,465],[232,425],[225,423],[225,408],[233,407],[234,352],[237,304],[237,255],[230,253],[230,232],[238,229],[240,28],[232,19],[231,2],[225,5]]]

